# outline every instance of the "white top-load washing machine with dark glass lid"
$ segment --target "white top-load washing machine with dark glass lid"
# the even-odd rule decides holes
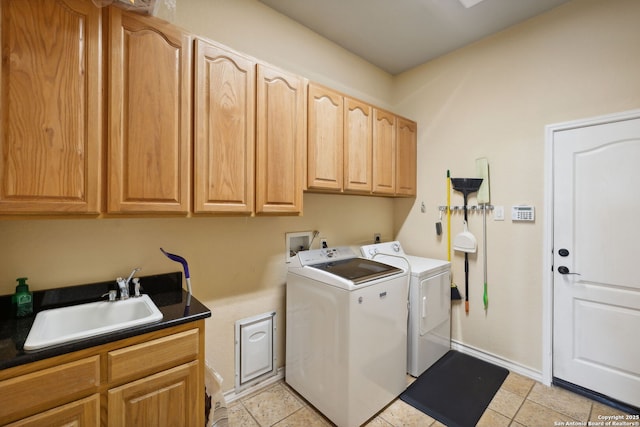
[[[338,426],[363,424],[406,389],[408,282],[348,247],[290,264],[286,382]]]

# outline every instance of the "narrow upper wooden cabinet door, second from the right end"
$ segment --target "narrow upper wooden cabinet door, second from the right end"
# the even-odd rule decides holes
[[[396,191],[396,116],[373,109],[373,192]]]

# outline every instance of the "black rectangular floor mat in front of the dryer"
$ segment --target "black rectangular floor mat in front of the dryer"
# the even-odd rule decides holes
[[[473,427],[509,371],[450,350],[400,399],[449,427]]]

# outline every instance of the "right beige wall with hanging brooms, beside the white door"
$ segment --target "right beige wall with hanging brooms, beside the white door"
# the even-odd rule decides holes
[[[470,256],[470,313],[454,304],[453,339],[542,369],[544,128],[640,107],[638,22],[638,1],[576,0],[398,76],[394,108],[419,123],[419,194],[415,204],[396,206],[405,249],[446,257],[446,236],[436,237],[434,223],[437,206],[446,204],[447,169],[473,177],[475,160],[486,157],[491,203],[505,206],[504,222],[487,222],[486,313],[482,216],[469,218],[479,253]],[[460,193],[452,204],[462,205]],[[535,223],[511,222],[517,204],[535,206]],[[461,228],[462,215],[453,215],[453,235]],[[453,257],[453,271],[464,288],[462,254]]]

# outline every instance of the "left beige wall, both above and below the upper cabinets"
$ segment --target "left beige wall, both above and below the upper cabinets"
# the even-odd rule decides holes
[[[392,78],[256,0],[178,0],[171,20],[195,34],[380,106]],[[234,323],[278,313],[278,366],[284,365],[284,236],[319,230],[331,245],[392,239],[393,201],[305,194],[304,215],[272,218],[1,220],[0,294],[17,277],[33,290],[179,270],[159,247],[189,261],[194,295],[213,312],[206,357],[234,387]],[[319,244],[319,242],[315,242]]]

